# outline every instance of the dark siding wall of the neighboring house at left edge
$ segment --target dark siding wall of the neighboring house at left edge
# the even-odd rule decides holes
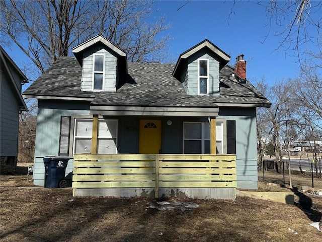
[[[16,92],[3,71],[1,71],[0,92],[1,156],[17,156],[19,102]]]

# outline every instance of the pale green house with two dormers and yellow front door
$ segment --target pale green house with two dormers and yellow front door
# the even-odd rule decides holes
[[[237,188],[257,189],[256,107],[271,103],[246,79],[246,62],[204,40],[176,65],[128,63],[98,35],[61,57],[25,92],[38,99],[34,184],[43,157],[90,153],[99,115],[98,153],[209,154],[215,118],[218,154],[236,154]],[[73,160],[66,174],[72,172]]]

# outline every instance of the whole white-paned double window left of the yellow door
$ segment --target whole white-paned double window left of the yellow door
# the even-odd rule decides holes
[[[74,119],[74,147],[75,153],[90,153],[92,151],[93,119]],[[117,153],[117,119],[99,119],[98,124],[98,151],[99,154]]]

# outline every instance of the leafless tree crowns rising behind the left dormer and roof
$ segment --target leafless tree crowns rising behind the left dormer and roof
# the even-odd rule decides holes
[[[164,61],[170,27],[145,23],[150,1],[1,1],[1,33],[23,50],[40,72],[71,47],[97,34],[122,47],[130,61]],[[9,41],[2,41],[8,44]]]

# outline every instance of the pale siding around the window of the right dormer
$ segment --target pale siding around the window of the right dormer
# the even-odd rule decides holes
[[[219,96],[219,62],[213,54],[201,50],[188,59],[187,90],[188,95],[198,95],[198,59],[209,59],[209,95]]]

